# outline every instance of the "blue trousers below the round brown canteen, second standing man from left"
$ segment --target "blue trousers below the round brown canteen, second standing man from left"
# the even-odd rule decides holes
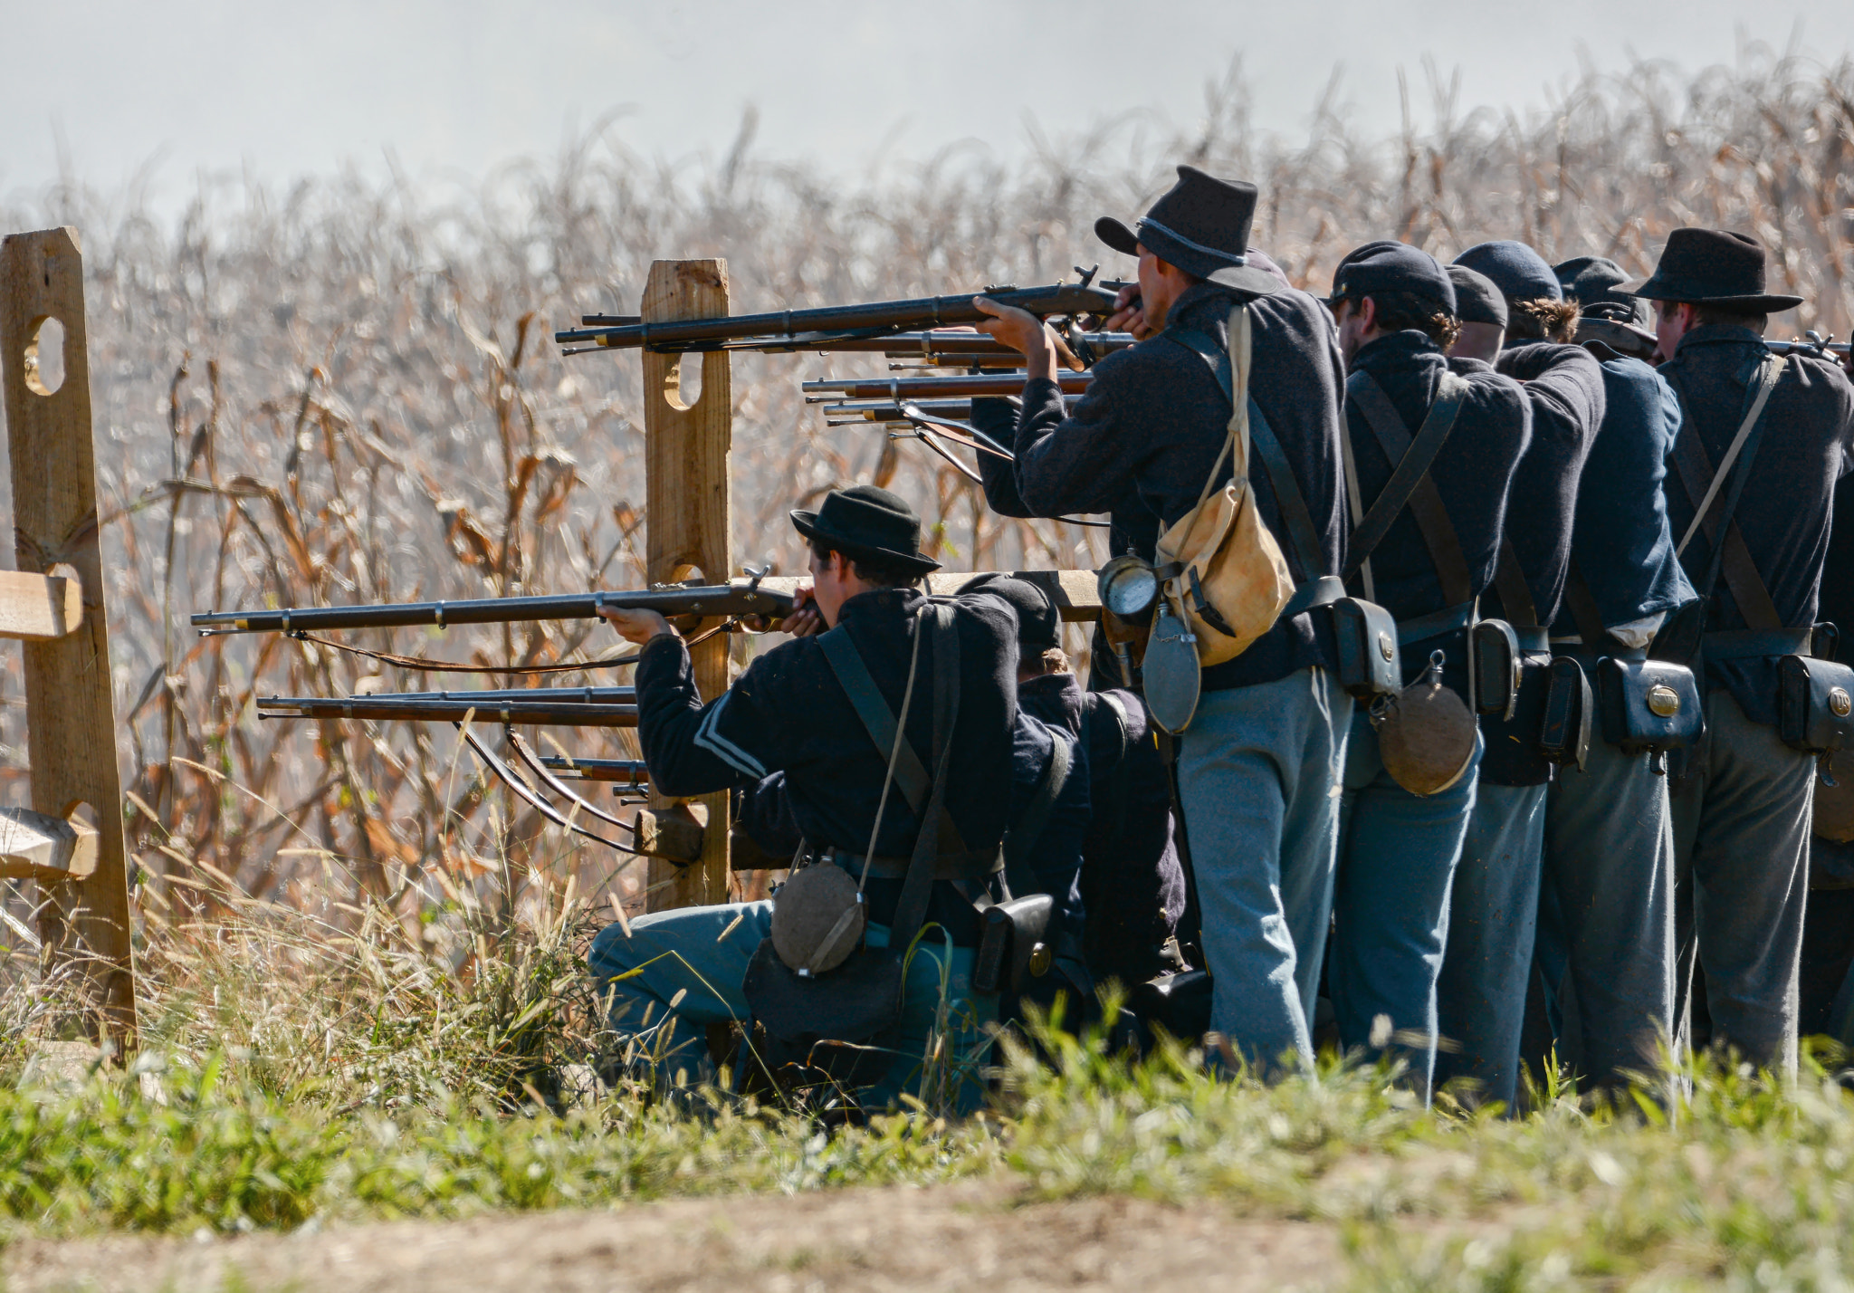
[[[1415,796],[1385,772],[1370,716],[1359,711],[1352,720],[1327,989],[1340,1044],[1374,1048],[1374,1024],[1387,1018],[1394,1033],[1387,1048],[1409,1061],[1424,1096],[1435,1080],[1435,983],[1448,946],[1448,898],[1479,761],[1476,733],[1461,779],[1441,794]]]

